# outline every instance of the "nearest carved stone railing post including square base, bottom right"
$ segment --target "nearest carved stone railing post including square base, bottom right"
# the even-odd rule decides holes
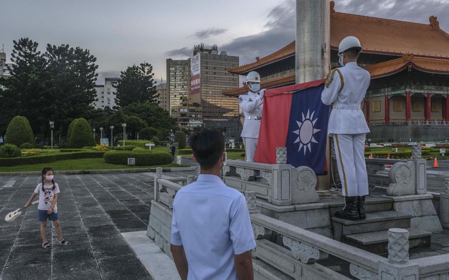
[[[388,230],[388,261],[379,262],[380,280],[417,280],[419,265],[409,262],[409,232],[405,229]]]

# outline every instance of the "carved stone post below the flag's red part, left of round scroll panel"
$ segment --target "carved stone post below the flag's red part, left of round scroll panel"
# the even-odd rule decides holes
[[[292,204],[292,181],[294,168],[287,164],[287,148],[276,148],[276,164],[273,165],[272,203],[274,205]]]

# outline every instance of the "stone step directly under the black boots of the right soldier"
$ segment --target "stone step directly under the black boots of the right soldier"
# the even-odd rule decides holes
[[[331,217],[334,239],[341,241],[343,236],[388,230],[390,228],[409,228],[412,215],[398,211],[379,211],[367,213],[366,220],[351,221]]]

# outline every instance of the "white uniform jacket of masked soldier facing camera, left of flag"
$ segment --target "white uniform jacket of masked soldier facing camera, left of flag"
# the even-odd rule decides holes
[[[259,93],[249,91],[248,94],[242,94],[238,97],[238,103],[245,116],[240,136],[244,138],[259,138],[263,107],[261,96]]]

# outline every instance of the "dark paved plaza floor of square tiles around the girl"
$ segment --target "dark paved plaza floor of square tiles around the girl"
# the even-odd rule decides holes
[[[188,172],[180,176],[192,175]],[[3,217],[23,207],[38,176],[0,176],[1,280],[148,280],[150,274],[121,233],[147,230],[153,199],[152,175],[57,175],[58,214],[64,238],[57,244],[47,223],[51,249],[41,247],[37,207],[12,223]]]

